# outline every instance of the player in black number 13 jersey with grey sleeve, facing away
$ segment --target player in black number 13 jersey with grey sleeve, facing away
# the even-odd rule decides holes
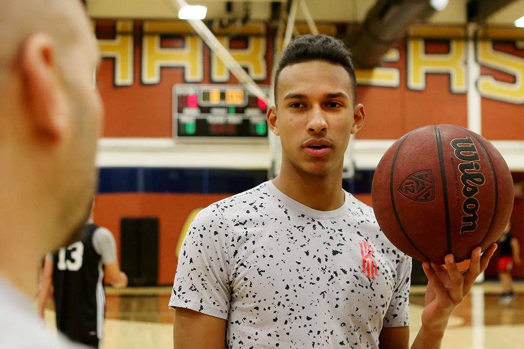
[[[79,241],[48,254],[43,264],[38,310],[43,318],[51,291],[57,329],[70,340],[97,348],[104,332],[104,269],[114,287],[126,287],[127,276],[118,266],[115,238],[111,231],[93,221],[94,199],[89,221]]]

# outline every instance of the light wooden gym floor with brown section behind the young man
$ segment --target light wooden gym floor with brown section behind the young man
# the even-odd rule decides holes
[[[524,283],[516,283],[515,290],[517,297],[504,306],[498,283],[475,285],[453,313],[442,348],[524,349]],[[104,349],[172,348],[170,292],[170,287],[106,288]],[[413,341],[421,325],[423,286],[412,287],[410,303]],[[46,321],[55,327],[52,304]]]

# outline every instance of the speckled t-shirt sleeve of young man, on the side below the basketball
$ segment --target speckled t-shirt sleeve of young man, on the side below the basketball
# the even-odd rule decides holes
[[[384,327],[409,326],[409,289],[411,286],[411,257],[400,253],[395,290],[384,317]]]

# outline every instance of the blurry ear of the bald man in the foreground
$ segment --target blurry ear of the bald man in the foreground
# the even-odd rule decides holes
[[[60,141],[70,120],[53,40],[44,33],[31,35],[23,44],[20,61],[28,125],[40,141]]]

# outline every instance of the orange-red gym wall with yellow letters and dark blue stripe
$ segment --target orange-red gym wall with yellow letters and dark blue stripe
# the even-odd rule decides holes
[[[297,28],[307,32],[304,24]],[[345,35],[355,27],[324,23],[319,29],[330,35]],[[143,139],[171,139],[175,84],[238,84],[186,22],[96,20],[94,30],[104,58],[97,84],[106,108],[106,140],[139,143]],[[259,22],[248,24],[233,37],[228,36],[231,30],[213,28],[254,80],[269,85],[272,57],[278,45],[275,29]],[[481,95],[482,134],[497,147],[518,152],[524,144],[523,33],[515,28],[491,28],[467,38],[461,26],[412,28],[409,38],[391,49],[380,67],[357,70],[358,100],[365,105],[367,116],[357,142],[390,141],[435,123],[467,127],[466,60],[468,45],[473,42],[475,60],[481,65],[476,88]],[[172,148],[176,147],[174,140]],[[210,150],[213,147],[209,144]],[[191,150],[188,152],[191,156]],[[511,154],[514,160],[510,167],[520,178],[522,160],[519,162],[515,151]],[[159,218],[159,285],[172,283],[177,244],[195,209],[267,179],[264,169],[253,168],[247,159],[243,169],[242,162],[224,162],[223,166],[210,168],[207,164],[213,161],[211,151],[193,156],[197,159],[191,168],[162,163],[148,167],[104,163],[101,168],[95,220],[115,234],[118,246],[122,218]],[[345,188],[370,203],[372,174],[373,167],[357,168],[358,178],[345,182]],[[522,212],[522,199],[518,198],[514,230],[524,246]],[[490,265],[486,276],[495,275],[494,265]],[[524,270],[520,268],[516,276],[523,277]]]

